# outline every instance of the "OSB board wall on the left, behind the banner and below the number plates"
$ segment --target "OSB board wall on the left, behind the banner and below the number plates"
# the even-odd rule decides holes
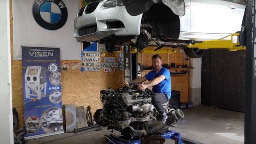
[[[11,55],[13,56],[13,29],[12,29],[12,0],[10,0],[10,28],[11,28]],[[103,58],[101,58],[102,60]],[[118,58],[115,58],[118,61]],[[79,62],[81,60],[62,60],[64,63]],[[75,103],[76,106],[91,106],[94,113],[102,108],[100,90],[108,87],[118,88],[123,84],[123,71],[116,68],[115,72],[81,72],[79,70],[62,70],[62,104]],[[23,124],[23,78],[22,61],[12,60],[12,102],[13,108],[19,115],[19,126]]]

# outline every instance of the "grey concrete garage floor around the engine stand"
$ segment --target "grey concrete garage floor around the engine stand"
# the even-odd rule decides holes
[[[244,113],[208,106],[185,109],[184,113],[185,119],[176,124],[178,127],[171,127],[172,131],[181,132],[181,136],[205,144],[244,143]],[[92,129],[32,139],[27,144],[106,144],[104,134],[109,133],[104,127],[100,131]],[[114,131],[114,134],[120,132]],[[165,144],[174,144],[174,141],[166,140]]]

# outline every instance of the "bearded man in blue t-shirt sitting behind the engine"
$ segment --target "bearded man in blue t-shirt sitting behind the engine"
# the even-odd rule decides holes
[[[128,83],[139,84],[147,80],[150,81],[147,84],[139,85],[138,88],[139,90],[142,90],[153,86],[152,90],[154,95],[152,97],[152,104],[160,113],[159,121],[165,123],[167,115],[162,104],[166,103],[171,98],[171,75],[168,69],[162,67],[162,60],[158,54],[152,57],[152,65],[154,67],[153,71],[150,71],[147,75],[145,75],[145,77],[134,79]]]

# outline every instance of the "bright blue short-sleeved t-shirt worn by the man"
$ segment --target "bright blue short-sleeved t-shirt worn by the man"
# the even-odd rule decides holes
[[[145,75],[148,81],[152,81],[154,78],[164,75],[166,79],[161,81],[159,84],[153,86],[153,92],[157,93],[164,93],[167,94],[168,98],[171,98],[171,75],[170,71],[165,67],[162,67],[160,71],[156,74],[156,70],[150,71],[148,74]]]

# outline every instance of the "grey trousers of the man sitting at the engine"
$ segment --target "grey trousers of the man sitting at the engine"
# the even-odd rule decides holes
[[[168,97],[166,94],[163,94],[163,93],[153,94],[152,104],[160,114],[163,114],[166,112],[163,106],[163,104],[166,102],[168,102]]]

